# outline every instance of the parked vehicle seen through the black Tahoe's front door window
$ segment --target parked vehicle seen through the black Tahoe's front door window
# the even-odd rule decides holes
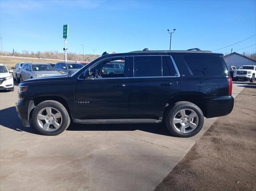
[[[102,75],[124,74],[124,60],[109,62],[102,67]]]

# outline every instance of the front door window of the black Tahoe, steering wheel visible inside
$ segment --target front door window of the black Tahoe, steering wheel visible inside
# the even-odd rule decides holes
[[[120,67],[122,66],[122,67]],[[124,77],[125,58],[106,59],[90,68],[91,78],[120,78]],[[128,65],[127,65],[128,67]]]

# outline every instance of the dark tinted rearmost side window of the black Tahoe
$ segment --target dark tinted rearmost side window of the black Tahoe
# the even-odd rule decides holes
[[[220,76],[226,75],[225,69],[217,56],[185,55],[184,61],[192,75],[195,76]]]

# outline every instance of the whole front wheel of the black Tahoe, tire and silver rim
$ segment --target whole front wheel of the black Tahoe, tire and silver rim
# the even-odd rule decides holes
[[[32,120],[36,130],[47,136],[64,132],[70,124],[66,108],[54,100],[47,100],[38,104],[33,111]]]

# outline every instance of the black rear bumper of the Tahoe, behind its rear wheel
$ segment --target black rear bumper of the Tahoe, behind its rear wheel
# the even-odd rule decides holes
[[[232,96],[207,97],[205,101],[206,118],[228,115],[234,107],[234,98]]]

